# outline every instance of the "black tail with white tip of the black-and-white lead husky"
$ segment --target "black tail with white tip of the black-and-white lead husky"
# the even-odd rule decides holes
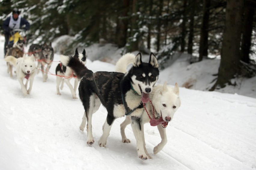
[[[72,69],[73,72],[75,72],[75,75],[78,79],[81,79],[83,77],[83,70],[88,70],[87,67],[82,63],[78,57],[72,57],[72,56],[66,56],[66,55],[60,55],[60,62],[66,66]]]

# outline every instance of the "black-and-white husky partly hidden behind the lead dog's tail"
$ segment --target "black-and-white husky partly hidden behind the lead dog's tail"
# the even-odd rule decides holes
[[[73,57],[77,57],[79,58],[79,60],[81,60],[81,62],[85,65],[86,64],[86,55],[85,55],[85,49],[83,51],[83,53],[78,53],[78,50],[76,48],[75,50],[75,55]],[[63,88],[63,84],[64,82],[69,86],[69,89],[71,91],[72,94],[72,98],[76,99],[76,89],[78,86],[78,79],[76,77],[76,75],[74,75],[74,72],[69,68],[64,66],[63,64],[59,63],[56,67],[55,70],[56,73],[56,83],[57,83],[57,94],[61,95],[61,93],[59,92],[59,86],[60,89]],[[70,84],[70,79],[74,78],[75,79],[75,84],[74,84],[74,88],[72,87],[72,85]]]

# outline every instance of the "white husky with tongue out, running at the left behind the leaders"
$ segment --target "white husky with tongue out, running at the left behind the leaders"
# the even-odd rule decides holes
[[[15,58],[14,56],[5,57],[5,61],[10,62],[16,67],[16,74],[18,81],[20,82],[21,90],[24,95],[27,95],[31,92],[34,77],[36,75],[36,64],[34,56],[26,56]],[[26,78],[25,85],[23,84],[23,79]],[[29,89],[27,90],[27,85],[29,81]]]

